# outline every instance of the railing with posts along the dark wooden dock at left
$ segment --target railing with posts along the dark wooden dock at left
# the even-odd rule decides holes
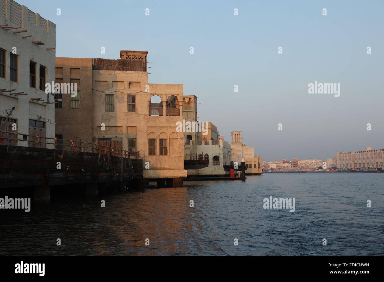
[[[4,134],[13,134],[13,138],[5,137]],[[18,135],[22,135],[23,137],[32,137],[31,139],[28,138],[28,140],[25,139],[18,139]],[[52,140],[53,142],[42,142],[40,139],[45,139],[45,141]],[[134,156],[136,158],[140,157],[140,152],[136,151],[126,151],[121,150],[116,147],[109,147],[104,146],[98,143],[88,143],[88,142],[81,142],[81,141],[73,141],[72,139],[58,139],[57,137],[51,138],[51,137],[40,137],[39,135],[27,135],[27,134],[21,134],[17,133],[17,131],[14,132],[7,132],[7,131],[0,131],[0,145],[4,145],[5,140],[13,140],[13,145],[17,146],[18,141],[28,142],[32,143],[33,146],[26,146],[26,147],[33,147],[33,148],[41,148],[41,144],[51,145],[55,150],[58,150],[58,147],[61,148],[60,150],[64,151],[77,151],[77,152],[89,152],[89,153],[101,153],[106,155],[112,155],[116,157],[125,157],[129,158],[131,156]]]

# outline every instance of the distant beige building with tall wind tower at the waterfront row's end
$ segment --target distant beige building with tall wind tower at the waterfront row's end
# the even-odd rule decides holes
[[[232,144],[231,144],[232,162],[238,162],[238,164],[240,165],[242,159],[244,159],[246,174],[263,173],[262,157],[255,156],[255,148],[248,147],[246,143],[242,142],[242,132],[232,131],[231,134],[232,134]]]

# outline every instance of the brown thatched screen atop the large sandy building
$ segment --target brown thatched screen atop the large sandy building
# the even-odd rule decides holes
[[[146,66],[142,60],[93,58],[92,69],[99,71],[146,71]]]

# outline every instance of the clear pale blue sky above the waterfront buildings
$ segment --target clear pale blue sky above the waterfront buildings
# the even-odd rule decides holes
[[[149,83],[183,84],[199,121],[265,161],[384,147],[384,1],[17,2],[56,24],[56,56],[148,51]],[[340,96],[309,94],[315,81]]]

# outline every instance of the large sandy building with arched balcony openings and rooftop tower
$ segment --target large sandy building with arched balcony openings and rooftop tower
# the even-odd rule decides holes
[[[180,185],[187,176],[184,134],[176,130],[183,120],[183,85],[148,83],[147,53],[56,58],[56,82],[76,83],[78,90],[76,97],[58,97],[56,136],[126,150],[143,158],[144,179]]]

